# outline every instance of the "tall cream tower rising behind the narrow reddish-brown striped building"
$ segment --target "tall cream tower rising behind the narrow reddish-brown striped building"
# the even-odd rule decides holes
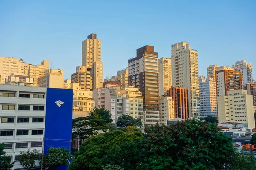
[[[172,45],[172,86],[188,90],[189,114],[200,117],[198,51],[188,42]]]

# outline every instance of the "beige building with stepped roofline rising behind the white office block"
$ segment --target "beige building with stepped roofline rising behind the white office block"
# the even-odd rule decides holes
[[[25,65],[25,72],[27,70],[27,75],[30,78],[34,79],[33,86],[37,87],[38,85],[38,77],[44,75],[45,71],[49,69],[49,60],[44,59],[41,64],[38,65]],[[40,87],[40,86],[39,86]]]

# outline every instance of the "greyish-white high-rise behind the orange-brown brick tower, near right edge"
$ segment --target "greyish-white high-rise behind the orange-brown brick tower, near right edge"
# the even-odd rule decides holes
[[[234,71],[240,71],[242,73],[243,86],[245,87],[247,82],[253,82],[253,65],[245,60],[237,61],[233,65]]]

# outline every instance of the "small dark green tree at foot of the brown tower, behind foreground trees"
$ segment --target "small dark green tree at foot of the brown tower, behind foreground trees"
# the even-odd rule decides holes
[[[122,115],[119,116],[116,122],[118,127],[125,127],[125,126],[135,126],[135,127],[142,127],[141,119],[134,119],[130,115]]]

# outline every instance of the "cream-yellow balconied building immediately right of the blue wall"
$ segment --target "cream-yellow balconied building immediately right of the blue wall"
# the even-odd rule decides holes
[[[82,90],[79,83],[71,83],[71,89],[73,89],[73,119],[90,116],[90,111],[93,111],[95,105],[93,91]]]

